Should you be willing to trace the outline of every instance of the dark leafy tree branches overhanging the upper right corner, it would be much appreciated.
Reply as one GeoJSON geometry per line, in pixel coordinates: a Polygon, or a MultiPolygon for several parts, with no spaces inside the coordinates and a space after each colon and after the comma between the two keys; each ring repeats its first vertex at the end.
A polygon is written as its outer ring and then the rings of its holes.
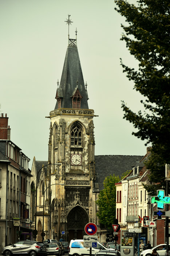
{"type": "Polygon", "coordinates": [[[121,40],[138,63],[138,69],[123,64],[123,72],[145,100],[145,112],[130,110],[122,102],[124,118],[133,123],[133,135],[151,143],[153,152],[170,162],[170,1],[138,0],[137,5],[115,0],[126,18],[121,40]]]}

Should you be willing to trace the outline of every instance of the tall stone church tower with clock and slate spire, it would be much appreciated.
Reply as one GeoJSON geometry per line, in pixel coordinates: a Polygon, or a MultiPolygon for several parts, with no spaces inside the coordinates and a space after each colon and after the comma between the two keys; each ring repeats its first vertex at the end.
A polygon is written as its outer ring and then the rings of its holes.
{"type": "Polygon", "coordinates": [[[96,223],[94,110],[88,108],[77,30],[76,39],[69,36],[70,15],[66,22],[68,47],[55,109],[50,112],[48,163],[51,165],[46,176],[49,188],[44,207],[44,232],[48,231],[44,240],[51,237],[58,241],[62,234],[66,241],[83,239],[85,225],[96,223]]]}

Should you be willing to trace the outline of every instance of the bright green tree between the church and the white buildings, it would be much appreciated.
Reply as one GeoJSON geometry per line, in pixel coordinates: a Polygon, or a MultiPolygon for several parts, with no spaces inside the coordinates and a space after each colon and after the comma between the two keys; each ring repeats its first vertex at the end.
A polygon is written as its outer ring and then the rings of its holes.
{"type": "MultiPolygon", "coordinates": [[[[122,174],[121,179],[130,171],[126,171],[122,174]]],[[[100,191],[96,204],[99,207],[97,216],[99,222],[106,227],[111,227],[114,224],[116,218],[116,186],[115,183],[120,181],[119,176],[107,176],[103,182],[104,189],[100,191]]]]}

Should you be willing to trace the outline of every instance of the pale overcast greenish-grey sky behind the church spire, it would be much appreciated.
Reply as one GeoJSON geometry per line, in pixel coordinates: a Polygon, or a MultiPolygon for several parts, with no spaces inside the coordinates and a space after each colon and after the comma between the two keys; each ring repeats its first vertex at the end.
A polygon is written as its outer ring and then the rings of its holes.
{"type": "Polygon", "coordinates": [[[51,110],[56,104],[70,38],[75,38],[87,81],[88,106],[94,109],[95,155],[145,155],[146,146],[131,135],[123,119],[121,100],[134,111],[141,95],[126,78],[120,57],[137,67],[120,27],[124,17],[114,0],[0,0],[0,104],[7,113],[11,140],[32,160],[48,160],[51,110]]]}

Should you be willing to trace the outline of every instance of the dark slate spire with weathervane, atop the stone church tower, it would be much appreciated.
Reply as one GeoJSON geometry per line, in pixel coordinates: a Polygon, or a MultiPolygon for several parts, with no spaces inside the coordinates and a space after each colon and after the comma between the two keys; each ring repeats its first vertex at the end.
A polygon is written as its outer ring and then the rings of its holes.
{"type": "Polygon", "coordinates": [[[79,108],[88,109],[87,87],[85,89],[82,68],[77,48],[77,29],[76,39],[69,36],[69,25],[71,25],[70,15],[67,19],[68,24],[68,47],[64,60],[62,78],[60,86],[56,92],[56,106],[59,108],[79,108]]]}

